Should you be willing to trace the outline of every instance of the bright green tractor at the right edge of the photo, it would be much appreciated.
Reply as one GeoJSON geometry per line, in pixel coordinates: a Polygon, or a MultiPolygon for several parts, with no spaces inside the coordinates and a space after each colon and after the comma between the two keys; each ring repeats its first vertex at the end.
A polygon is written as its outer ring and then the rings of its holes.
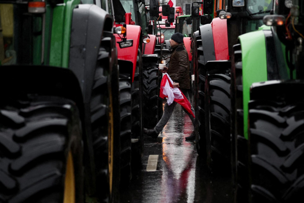
{"type": "Polygon", "coordinates": [[[304,3],[278,0],[272,11],[263,19],[268,28],[239,36],[234,46],[237,202],[302,202],[304,3]]]}

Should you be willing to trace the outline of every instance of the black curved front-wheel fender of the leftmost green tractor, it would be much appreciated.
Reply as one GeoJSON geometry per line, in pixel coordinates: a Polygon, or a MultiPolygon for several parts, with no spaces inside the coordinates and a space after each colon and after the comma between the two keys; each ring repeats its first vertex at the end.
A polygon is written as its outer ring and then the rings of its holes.
{"type": "MultiPolygon", "coordinates": [[[[35,94],[64,97],[74,101],[84,124],[84,105],[81,88],[75,74],[53,66],[10,65],[0,69],[1,103],[23,95],[35,94]]],[[[84,126],[83,133],[85,133],[84,126]]]]}

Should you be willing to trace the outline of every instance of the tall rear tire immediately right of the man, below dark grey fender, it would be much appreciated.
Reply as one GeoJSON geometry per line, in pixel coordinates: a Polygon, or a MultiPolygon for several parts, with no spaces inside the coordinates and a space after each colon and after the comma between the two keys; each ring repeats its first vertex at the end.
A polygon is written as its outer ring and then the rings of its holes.
{"type": "MultiPolygon", "coordinates": [[[[195,34],[198,32],[195,32],[195,34]]],[[[205,80],[206,67],[201,36],[193,37],[193,68],[194,80],[194,106],[195,106],[195,145],[200,158],[206,159],[205,135],[205,80]]]]}

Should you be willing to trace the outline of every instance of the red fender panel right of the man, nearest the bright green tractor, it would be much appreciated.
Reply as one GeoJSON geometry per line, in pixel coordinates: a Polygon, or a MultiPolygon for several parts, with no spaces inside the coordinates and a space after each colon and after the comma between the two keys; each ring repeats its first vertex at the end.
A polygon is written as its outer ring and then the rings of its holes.
{"type": "Polygon", "coordinates": [[[229,60],[227,20],[214,18],[211,27],[216,60],[229,60]]]}

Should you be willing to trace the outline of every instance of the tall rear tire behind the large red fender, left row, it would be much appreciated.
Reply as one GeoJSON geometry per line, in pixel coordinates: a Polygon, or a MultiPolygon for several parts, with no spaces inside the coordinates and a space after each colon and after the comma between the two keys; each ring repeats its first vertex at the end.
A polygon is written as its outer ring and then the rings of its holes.
{"type": "Polygon", "coordinates": [[[132,129],[131,129],[131,157],[132,170],[138,168],[143,156],[143,133],[142,133],[142,98],[143,98],[143,70],[141,50],[138,48],[134,81],[132,83],[132,129]]]}

